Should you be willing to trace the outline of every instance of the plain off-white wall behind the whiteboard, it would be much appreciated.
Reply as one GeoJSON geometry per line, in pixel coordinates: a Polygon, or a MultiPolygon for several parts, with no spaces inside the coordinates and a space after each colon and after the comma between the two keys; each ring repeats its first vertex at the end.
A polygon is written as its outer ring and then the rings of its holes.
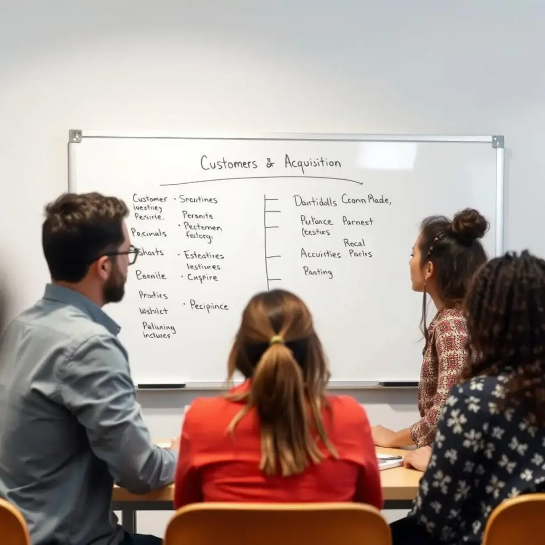
{"type": "MultiPolygon", "coordinates": [[[[47,279],[41,210],[66,190],[70,128],[502,134],[507,246],[545,253],[540,0],[0,0],[0,14],[11,314],[41,295],[29,271],[47,279]]],[[[416,416],[414,392],[358,397],[374,422],[416,416]]],[[[177,433],[190,397],[140,398],[155,437],[177,433]]],[[[139,528],[161,534],[165,517],[139,528]]]]}

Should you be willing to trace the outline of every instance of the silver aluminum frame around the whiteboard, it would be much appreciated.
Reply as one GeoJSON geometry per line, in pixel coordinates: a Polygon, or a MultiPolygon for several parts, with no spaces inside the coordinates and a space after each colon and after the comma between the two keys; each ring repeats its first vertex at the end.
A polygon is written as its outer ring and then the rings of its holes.
{"type": "MultiPolygon", "coordinates": [[[[437,142],[437,143],[481,143],[490,144],[496,150],[496,256],[505,251],[505,140],[500,135],[366,135],[366,134],[343,134],[343,133],[272,133],[255,135],[210,135],[208,133],[183,133],[173,131],[108,131],[108,130],[82,130],[70,129],[68,132],[68,190],[74,189],[73,163],[70,158],[72,146],[77,146],[86,138],[138,138],[156,139],[166,138],[169,140],[293,140],[293,141],[329,141],[329,142],[437,142]]],[[[414,380],[391,381],[396,386],[387,385],[389,381],[368,381],[368,380],[332,380],[329,383],[330,389],[353,390],[353,389],[398,389],[416,388],[414,380]],[[407,386],[399,384],[406,382],[407,386]],[[381,384],[382,383],[382,384],[381,384]]],[[[153,391],[178,391],[186,390],[219,390],[225,386],[223,382],[196,382],[187,383],[183,389],[154,389],[153,391]]],[[[143,391],[143,389],[137,389],[143,391]]]]}

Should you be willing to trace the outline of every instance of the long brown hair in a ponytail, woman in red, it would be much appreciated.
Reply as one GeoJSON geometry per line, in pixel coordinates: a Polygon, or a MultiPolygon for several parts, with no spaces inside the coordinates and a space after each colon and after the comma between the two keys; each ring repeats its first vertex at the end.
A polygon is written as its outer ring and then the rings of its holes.
{"type": "Polygon", "coordinates": [[[324,453],[313,431],[336,457],[322,420],[328,365],[311,314],[298,296],[272,290],[250,300],[229,355],[229,379],[237,370],[251,379],[251,387],[227,396],[246,402],[228,431],[233,432],[251,409],[257,411],[259,469],[274,475],[280,468],[286,477],[322,461],[324,453]]]}

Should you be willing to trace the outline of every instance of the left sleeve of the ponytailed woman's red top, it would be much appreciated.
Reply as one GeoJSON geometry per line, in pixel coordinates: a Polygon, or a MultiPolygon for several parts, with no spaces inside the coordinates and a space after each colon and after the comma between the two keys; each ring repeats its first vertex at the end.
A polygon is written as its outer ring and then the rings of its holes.
{"type": "Polygon", "coordinates": [[[201,475],[192,463],[193,453],[193,415],[195,411],[188,409],[181,428],[180,453],[174,481],[174,508],[179,509],[187,504],[203,501],[201,475]]]}

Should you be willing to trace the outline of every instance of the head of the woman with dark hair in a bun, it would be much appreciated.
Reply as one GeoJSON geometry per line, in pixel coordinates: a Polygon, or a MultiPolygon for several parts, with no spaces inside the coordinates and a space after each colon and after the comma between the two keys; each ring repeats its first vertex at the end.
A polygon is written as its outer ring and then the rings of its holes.
{"type": "Polygon", "coordinates": [[[453,217],[429,216],[422,221],[410,259],[413,289],[423,292],[422,328],[426,330],[426,293],[444,307],[461,305],[475,272],[486,263],[481,241],[488,222],[466,208],[453,217]]]}

